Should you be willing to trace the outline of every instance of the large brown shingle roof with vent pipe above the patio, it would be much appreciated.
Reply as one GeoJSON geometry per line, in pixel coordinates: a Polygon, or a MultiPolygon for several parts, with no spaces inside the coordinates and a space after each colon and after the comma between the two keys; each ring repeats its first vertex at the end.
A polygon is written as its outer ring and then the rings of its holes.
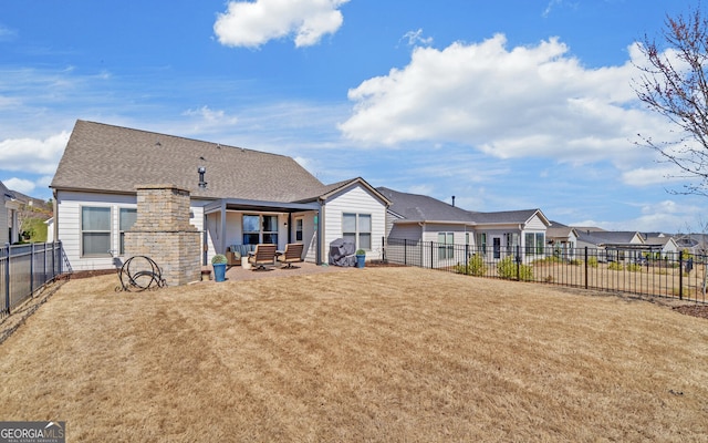
{"type": "Polygon", "coordinates": [[[295,202],[325,186],[293,158],[154,132],[76,121],[51,187],[135,193],[174,184],[195,197],[295,202]],[[206,167],[206,189],[199,188],[206,167]]]}

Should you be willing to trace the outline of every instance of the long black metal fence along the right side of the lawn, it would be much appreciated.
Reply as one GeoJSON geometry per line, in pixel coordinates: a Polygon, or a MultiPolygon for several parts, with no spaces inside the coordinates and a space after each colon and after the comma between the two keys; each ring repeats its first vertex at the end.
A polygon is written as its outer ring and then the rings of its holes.
{"type": "Polygon", "coordinates": [[[389,264],[476,277],[543,282],[707,302],[708,257],[652,249],[472,247],[384,239],[389,264]]]}

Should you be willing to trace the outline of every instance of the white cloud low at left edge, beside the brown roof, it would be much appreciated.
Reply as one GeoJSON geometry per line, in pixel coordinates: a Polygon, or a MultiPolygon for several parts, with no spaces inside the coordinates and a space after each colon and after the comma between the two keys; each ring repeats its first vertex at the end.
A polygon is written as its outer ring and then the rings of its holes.
{"type": "Polygon", "coordinates": [[[0,142],[0,165],[4,171],[54,174],[66,142],[69,133],[65,131],[46,140],[4,140],[0,142]]]}

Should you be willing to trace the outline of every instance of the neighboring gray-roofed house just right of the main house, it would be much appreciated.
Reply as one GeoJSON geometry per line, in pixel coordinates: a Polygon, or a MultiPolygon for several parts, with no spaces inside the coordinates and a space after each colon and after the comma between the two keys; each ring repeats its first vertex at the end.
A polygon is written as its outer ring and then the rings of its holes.
{"type": "Polygon", "coordinates": [[[452,245],[466,245],[470,254],[481,254],[489,260],[516,254],[517,249],[522,256],[544,255],[549,220],[540,209],[476,213],[419,194],[386,187],[378,190],[391,200],[386,237],[435,244],[439,266],[464,259],[464,250],[452,245]]]}

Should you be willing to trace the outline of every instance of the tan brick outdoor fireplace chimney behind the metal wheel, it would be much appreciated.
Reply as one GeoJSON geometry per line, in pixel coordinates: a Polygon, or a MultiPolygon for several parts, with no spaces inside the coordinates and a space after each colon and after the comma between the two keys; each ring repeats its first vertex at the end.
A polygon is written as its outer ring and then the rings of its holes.
{"type": "Polygon", "coordinates": [[[189,192],[175,185],[136,189],[137,219],[125,233],[126,257],[152,258],[168,286],[199,280],[199,231],[189,224],[189,192]]]}

